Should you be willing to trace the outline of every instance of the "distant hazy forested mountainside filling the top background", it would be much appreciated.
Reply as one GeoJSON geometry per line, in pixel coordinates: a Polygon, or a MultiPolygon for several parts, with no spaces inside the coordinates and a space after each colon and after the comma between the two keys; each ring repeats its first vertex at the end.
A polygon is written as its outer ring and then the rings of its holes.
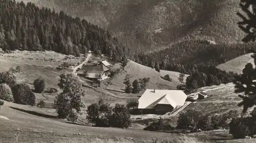
{"type": "Polygon", "coordinates": [[[237,27],[240,20],[239,0],[170,1],[170,0],[98,0],[38,1],[38,6],[63,10],[110,30],[119,41],[135,52],[158,49],[182,39],[207,39],[217,43],[240,42],[244,33],[237,27]]]}

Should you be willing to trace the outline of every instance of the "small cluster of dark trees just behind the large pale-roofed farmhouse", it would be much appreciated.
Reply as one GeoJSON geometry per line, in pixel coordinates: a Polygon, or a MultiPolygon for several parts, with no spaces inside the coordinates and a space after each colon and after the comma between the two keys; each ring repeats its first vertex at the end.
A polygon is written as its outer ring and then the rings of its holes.
{"type": "Polygon", "coordinates": [[[143,78],[138,80],[134,80],[133,83],[131,84],[130,81],[131,76],[127,74],[124,79],[124,84],[125,84],[125,92],[126,93],[139,93],[142,91],[142,89],[145,89],[148,82],[150,82],[150,78],[143,78]]]}

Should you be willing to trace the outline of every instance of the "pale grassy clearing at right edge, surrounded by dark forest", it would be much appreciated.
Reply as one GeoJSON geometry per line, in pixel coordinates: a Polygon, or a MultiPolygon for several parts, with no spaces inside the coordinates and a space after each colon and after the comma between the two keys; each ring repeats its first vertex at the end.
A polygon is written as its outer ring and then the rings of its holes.
{"type": "Polygon", "coordinates": [[[243,74],[243,69],[247,63],[251,63],[253,67],[255,67],[254,60],[251,57],[252,55],[253,53],[239,56],[237,58],[234,58],[223,64],[218,65],[217,68],[225,71],[232,71],[233,73],[243,74]]]}

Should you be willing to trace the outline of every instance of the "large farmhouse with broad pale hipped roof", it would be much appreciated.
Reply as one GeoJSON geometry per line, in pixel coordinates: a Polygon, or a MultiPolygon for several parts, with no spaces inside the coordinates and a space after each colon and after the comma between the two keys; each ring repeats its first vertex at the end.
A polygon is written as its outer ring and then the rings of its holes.
{"type": "Polygon", "coordinates": [[[139,99],[138,109],[162,114],[183,106],[186,98],[182,90],[146,89],[139,99]]]}

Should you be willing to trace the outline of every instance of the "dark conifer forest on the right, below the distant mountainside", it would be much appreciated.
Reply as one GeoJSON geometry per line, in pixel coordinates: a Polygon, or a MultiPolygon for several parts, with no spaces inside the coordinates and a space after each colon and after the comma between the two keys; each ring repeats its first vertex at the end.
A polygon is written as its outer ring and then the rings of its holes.
{"type": "Polygon", "coordinates": [[[189,74],[191,76],[187,79],[186,85],[188,88],[198,88],[232,82],[237,74],[227,73],[216,66],[248,54],[248,51],[254,49],[255,45],[253,42],[211,44],[206,40],[185,40],[170,45],[162,51],[140,54],[135,56],[134,60],[153,68],[159,65],[160,69],[189,74]],[[206,78],[200,78],[200,73],[206,78]]]}

